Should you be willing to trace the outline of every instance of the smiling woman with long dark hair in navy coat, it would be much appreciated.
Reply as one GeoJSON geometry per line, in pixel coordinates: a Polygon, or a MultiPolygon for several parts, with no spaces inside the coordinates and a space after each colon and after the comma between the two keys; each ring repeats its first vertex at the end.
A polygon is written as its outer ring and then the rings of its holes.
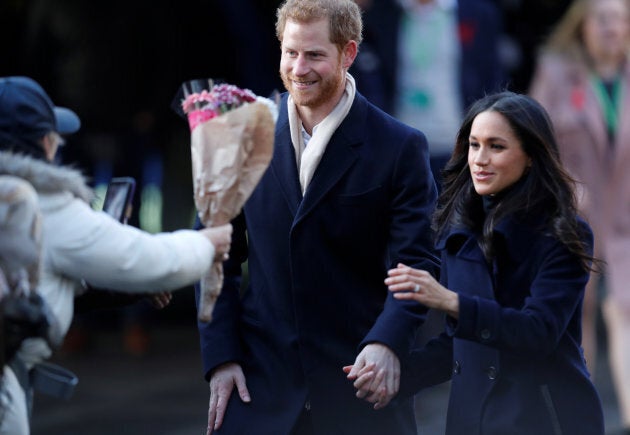
{"type": "MultiPolygon", "coordinates": [[[[452,379],[448,434],[603,434],[580,347],[592,233],[540,104],[503,92],[471,107],[434,223],[440,282],[403,264],[385,280],[446,314],[403,366],[402,394],[452,379]]],[[[376,378],[360,373],[358,395],[376,378]]]]}

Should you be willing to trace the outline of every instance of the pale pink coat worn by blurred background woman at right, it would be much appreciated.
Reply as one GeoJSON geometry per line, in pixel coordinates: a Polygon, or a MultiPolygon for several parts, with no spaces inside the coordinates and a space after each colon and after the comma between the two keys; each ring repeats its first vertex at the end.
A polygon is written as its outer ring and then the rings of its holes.
{"type": "Polygon", "coordinates": [[[609,294],[630,313],[630,67],[622,75],[618,131],[610,146],[585,65],[558,54],[540,58],[530,95],[549,112],[560,155],[580,183],[580,209],[607,262],[609,294]]]}

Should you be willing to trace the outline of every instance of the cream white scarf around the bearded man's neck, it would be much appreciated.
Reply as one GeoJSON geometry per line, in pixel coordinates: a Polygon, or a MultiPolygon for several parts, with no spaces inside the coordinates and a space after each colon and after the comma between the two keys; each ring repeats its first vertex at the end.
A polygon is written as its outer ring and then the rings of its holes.
{"type": "Polygon", "coordinates": [[[346,73],[346,89],[341,96],[341,100],[339,100],[332,112],[322,122],[317,124],[317,129],[313,129],[313,136],[308,141],[306,148],[304,148],[304,139],[302,138],[302,121],[298,115],[293,98],[289,95],[287,103],[289,127],[291,129],[291,142],[293,142],[293,148],[295,148],[295,157],[300,170],[302,194],[304,194],[306,187],[311,182],[311,178],[313,178],[315,169],[317,169],[317,165],[319,165],[319,161],[322,159],[324,151],[326,151],[330,137],[348,115],[355,93],[354,78],[346,73]]]}

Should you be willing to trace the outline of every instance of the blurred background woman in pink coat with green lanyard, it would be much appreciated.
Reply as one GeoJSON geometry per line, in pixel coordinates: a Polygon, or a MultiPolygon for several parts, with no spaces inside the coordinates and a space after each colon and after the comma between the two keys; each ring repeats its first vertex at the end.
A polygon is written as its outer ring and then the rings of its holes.
{"type": "MultiPolygon", "coordinates": [[[[531,95],[549,111],[580,209],[606,261],[602,314],[624,433],[630,433],[630,3],[576,0],[540,53],[531,95]]],[[[584,301],[583,347],[594,371],[598,283],[584,301]]]]}

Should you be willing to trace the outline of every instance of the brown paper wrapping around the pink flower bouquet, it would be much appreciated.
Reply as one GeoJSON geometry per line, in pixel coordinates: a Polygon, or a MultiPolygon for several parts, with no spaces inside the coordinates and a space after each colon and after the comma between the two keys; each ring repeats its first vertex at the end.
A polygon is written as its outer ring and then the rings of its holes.
{"type": "MultiPolygon", "coordinates": [[[[275,122],[260,101],[245,104],[198,125],[191,133],[195,206],[206,227],[235,218],[273,155],[275,122]]],[[[215,262],[201,280],[200,321],[212,320],[223,286],[223,264],[215,262]]]]}

